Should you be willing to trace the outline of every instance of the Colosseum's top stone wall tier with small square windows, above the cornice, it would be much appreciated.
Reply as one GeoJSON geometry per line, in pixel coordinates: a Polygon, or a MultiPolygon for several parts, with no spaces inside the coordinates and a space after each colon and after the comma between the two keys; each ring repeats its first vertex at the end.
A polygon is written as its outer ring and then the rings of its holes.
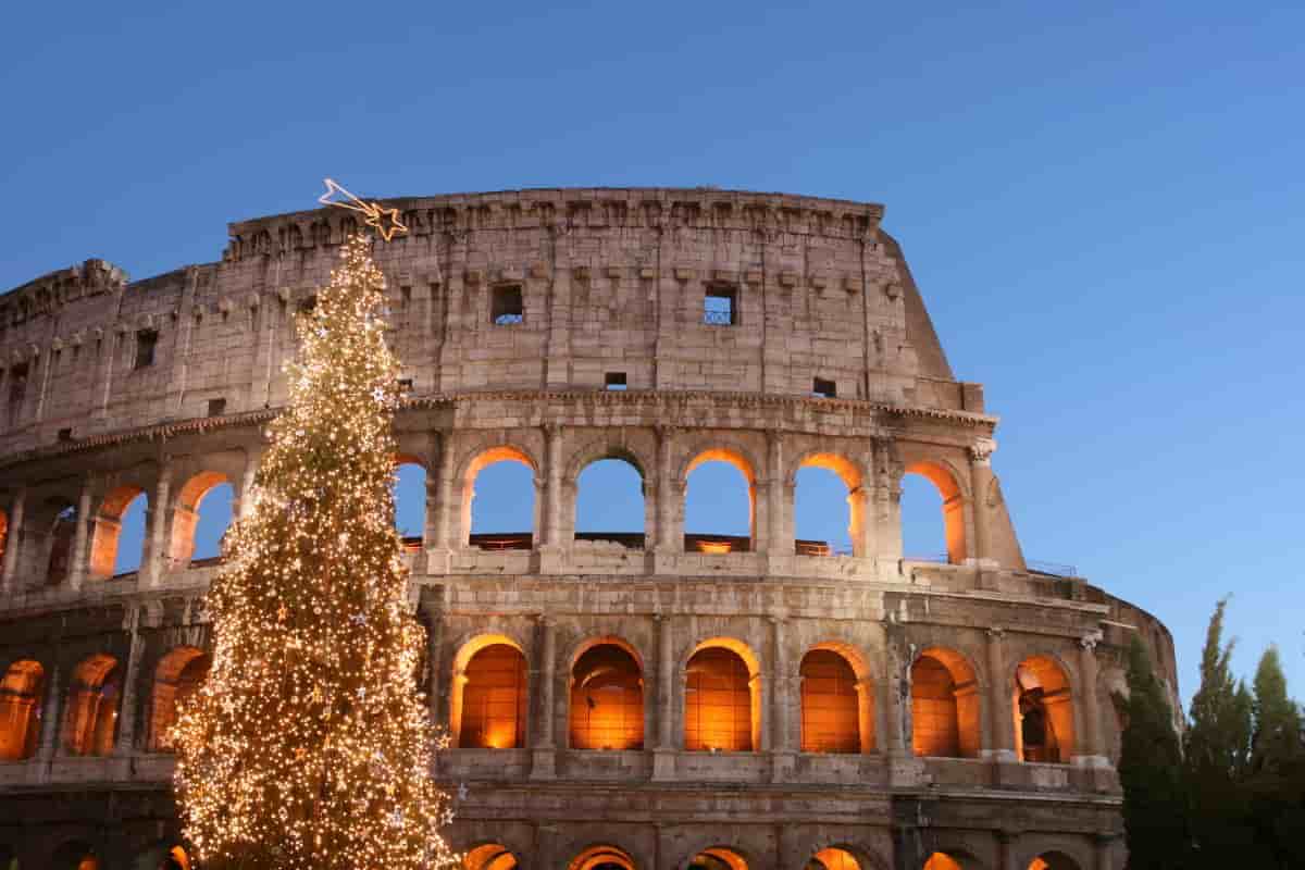
{"type": "MultiPolygon", "coordinates": [[[[882,207],[710,189],[519,190],[389,201],[378,244],[395,348],[416,395],[728,390],[983,412],[953,380],[882,207]],[[492,320],[519,287],[522,318],[492,320]],[[733,325],[703,322],[732,293],[733,325]]],[[[128,283],[98,260],[0,296],[3,453],[60,437],[279,406],[294,312],[355,215],[231,226],[218,263],[128,283]],[[154,335],[141,364],[142,337],[154,335]]]]}

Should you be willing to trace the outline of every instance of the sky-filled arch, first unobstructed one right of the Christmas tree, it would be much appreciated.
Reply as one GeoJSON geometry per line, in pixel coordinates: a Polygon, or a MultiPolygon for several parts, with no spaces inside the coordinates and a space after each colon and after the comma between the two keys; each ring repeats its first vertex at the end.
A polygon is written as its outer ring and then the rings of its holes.
{"type": "Polygon", "coordinates": [[[539,528],[535,463],[515,447],[476,457],[462,483],[463,544],[482,549],[530,549],[539,528]]]}

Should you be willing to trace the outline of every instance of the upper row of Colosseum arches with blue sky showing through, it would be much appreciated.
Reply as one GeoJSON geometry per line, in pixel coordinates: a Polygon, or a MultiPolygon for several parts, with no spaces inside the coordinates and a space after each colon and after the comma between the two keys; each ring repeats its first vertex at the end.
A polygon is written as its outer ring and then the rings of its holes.
{"type": "MultiPolygon", "coordinates": [[[[578,540],[643,545],[642,536],[656,522],[646,497],[647,460],[613,447],[572,464],[568,473],[573,476],[565,479],[574,489],[568,498],[572,533],[578,540]]],[[[395,523],[403,535],[420,537],[429,526],[427,470],[411,457],[397,457],[395,468],[395,523]]],[[[861,533],[869,510],[865,476],[856,462],[834,453],[809,453],[797,460],[791,475],[795,553],[869,554],[861,533]]],[[[499,446],[475,454],[461,470],[459,545],[530,548],[538,543],[544,522],[536,500],[540,480],[539,463],[523,449],[499,446]]],[[[703,449],[683,467],[679,480],[684,487],[681,524],[696,536],[685,543],[690,550],[756,548],[758,475],[749,457],[737,449],[703,449]]],[[[174,496],[166,493],[163,561],[184,566],[217,557],[235,513],[236,490],[228,476],[200,471],[174,496]]],[[[150,496],[144,487],[124,483],[95,503],[51,497],[26,505],[22,528],[10,528],[9,514],[0,510],[0,553],[18,545],[27,550],[27,586],[67,582],[81,567],[74,565],[78,558],[93,580],[129,574],[141,567],[147,549],[150,496]],[[89,515],[80,517],[81,510],[89,515]],[[77,552],[80,527],[86,530],[85,556],[77,552]]],[[[945,553],[953,562],[966,558],[964,500],[950,467],[906,466],[899,496],[903,552],[927,558],[945,553]]]]}

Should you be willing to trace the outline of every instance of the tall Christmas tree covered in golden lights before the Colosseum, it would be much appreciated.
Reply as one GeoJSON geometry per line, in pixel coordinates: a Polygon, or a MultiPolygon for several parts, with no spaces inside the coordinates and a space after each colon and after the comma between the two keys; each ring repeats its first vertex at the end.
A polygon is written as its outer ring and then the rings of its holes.
{"type": "Polygon", "coordinates": [[[352,235],[301,314],[290,403],[207,596],[214,653],[181,712],[176,794],[207,870],[454,863],[394,530],[384,279],[352,235]]]}

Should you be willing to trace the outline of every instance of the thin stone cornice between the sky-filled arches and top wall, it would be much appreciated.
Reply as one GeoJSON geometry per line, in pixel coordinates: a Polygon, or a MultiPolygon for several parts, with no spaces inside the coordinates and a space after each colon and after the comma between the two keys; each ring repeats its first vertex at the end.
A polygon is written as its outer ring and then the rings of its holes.
{"type": "MultiPolygon", "coordinates": [[[[716,391],[667,391],[667,390],[638,390],[630,393],[617,393],[606,390],[502,390],[483,393],[452,393],[427,397],[412,397],[405,399],[402,410],[442,410],[455,408],[459,404],[476,402],[515,402],[539,403],[548,400],[579,402],[587,404],[636,404],[636,406],[680,406],[693,407],[698,403],[716,406],[770,406],[770,407],[801,407],[816,412],[839,408],[850,412],[880,413],[887,417],[923,417],[942,420],[966,428],[992,432],[998,417],[974,413],[970,411],[951,411],[946,408],[923,408],[890,404],[885,402],[867,402],[864,399],[810,399],[797,395],[770,395],[765,393],[716,393],[716,391]]],[[[273,420],[279,413],[277,408],[249,411],[245,413],[232,413],[221,417],[192,417],[188,420],[172,420],[153,425],[124,429],[119,432],[106,432],[100,434],[44,445],[31,450],[0,457],[0,468],[9,468],[25,462],[65,457],[78,453],[98,450],[100,447],[117,446],[132,442],[166,441],[179,434],[192,432],[207,432],[210,429],[226,429],[239,427],[260,425],[273,420]]],[[[679,425],[679,424],[677,424],[679,425]]]]}

